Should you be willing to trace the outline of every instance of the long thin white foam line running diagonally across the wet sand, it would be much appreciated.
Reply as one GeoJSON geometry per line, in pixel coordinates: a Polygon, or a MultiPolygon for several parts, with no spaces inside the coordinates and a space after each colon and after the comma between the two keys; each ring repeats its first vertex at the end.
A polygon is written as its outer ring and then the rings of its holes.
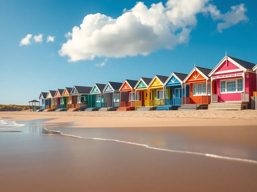
{"type": "Polygon", "coordinates": [[[45,131],[56,132],[56,133],[60,134],[61,136],[66,136],[66,137],[76,137],[76,138],[81,138],[81,139],[93,139],[93,140],[100,140],[100,141],[112,141],[112,142],[126,143],[126,144],[130,144],[130,145],[142,146],[142,147],[146,147],[148,149],[153,149],[153,150],[160,150],[160,151],[173,152],[173,153],[185,153],[185,154],[191,154],[191,155],[200,155],[200,156],[206,156],[206,157],[211,157],[211,158],[227,159],[227,160],[241,161],[241,162],[248,162],[248,163],[256,163],[257,164],[257,161],[251,160],[251,159],[241,159],[241,158],[234,158],[234,157],[226,157],[226,156],[219,156],[219,155],[208,154],[208,153],[197,153],[197,152],[190,152],[190,151],[170,150],[170,149],[164,149],[164,148],[151,147],[150,145],[146,145],[146,144],[132,143],[132,142],[128,142],[128,141],[120,141],[120,140],[116,140],[116,139],[105,139],[105,138],[94,138],[94,137],[80,137],[80,136],[75,136],[75,135],[63,134],[60,131],[47,130],[45,128],[43,128],[43,129],[45,131]]]}

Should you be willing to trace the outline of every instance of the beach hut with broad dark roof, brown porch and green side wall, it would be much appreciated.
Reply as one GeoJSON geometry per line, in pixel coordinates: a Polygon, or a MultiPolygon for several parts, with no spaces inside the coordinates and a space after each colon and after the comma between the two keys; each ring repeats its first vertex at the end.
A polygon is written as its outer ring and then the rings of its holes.
{"type": "Polygon", "coordinates": [[[74,99],[74,105],[70,105],[68,111],[84,111],[86,108],[92,108],[95,104],[95,98],[90,94],[92,87],[74,86],[70,92],[71,99],[74,99]]]}

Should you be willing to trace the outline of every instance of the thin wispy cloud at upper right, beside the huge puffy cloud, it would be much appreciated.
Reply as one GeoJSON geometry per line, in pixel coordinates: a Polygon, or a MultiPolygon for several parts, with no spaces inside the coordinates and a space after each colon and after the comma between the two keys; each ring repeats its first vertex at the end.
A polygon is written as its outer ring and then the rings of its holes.
{"type": "Polygon", "coordinates": [[[232,6],[231,10],[225,14],[221,14],[221,12],[217,10],[217,7],[214,5],[209,6],[209,11],[214,20],[223,20],[222,23],[218,23],[217,25],[217,30],[219,33],[221,33],[223,29],[230,28],[241,21],[247,22],[249,20],[245,15],[247,8],[244,6],[244,4],[232,6]]]}

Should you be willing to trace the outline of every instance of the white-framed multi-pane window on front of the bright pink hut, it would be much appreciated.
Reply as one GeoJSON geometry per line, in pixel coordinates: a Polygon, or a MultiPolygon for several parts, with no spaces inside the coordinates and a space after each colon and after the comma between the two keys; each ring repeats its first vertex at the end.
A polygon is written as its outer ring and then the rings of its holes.
{"type": "Polygon", "coordinates": [[[243,79],[221,80],[221,93],[238,93],[243,91],[243,79]]]}

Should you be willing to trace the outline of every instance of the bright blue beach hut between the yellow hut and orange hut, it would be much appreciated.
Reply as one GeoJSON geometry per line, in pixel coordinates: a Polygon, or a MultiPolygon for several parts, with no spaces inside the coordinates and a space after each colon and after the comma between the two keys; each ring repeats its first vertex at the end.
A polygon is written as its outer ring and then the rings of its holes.
{"type": "MultiPolygon", "coordinates": [[[[164,83],[165,105],[157,106],[156,110],[178,109],[182,105],[182,97],[185,97],[185,85],[183,80],[188,76],[184,73],[173,72],[164,83]]],[[[186,84],[186,97],[189,97],[189,84],[186,84]]]]}

